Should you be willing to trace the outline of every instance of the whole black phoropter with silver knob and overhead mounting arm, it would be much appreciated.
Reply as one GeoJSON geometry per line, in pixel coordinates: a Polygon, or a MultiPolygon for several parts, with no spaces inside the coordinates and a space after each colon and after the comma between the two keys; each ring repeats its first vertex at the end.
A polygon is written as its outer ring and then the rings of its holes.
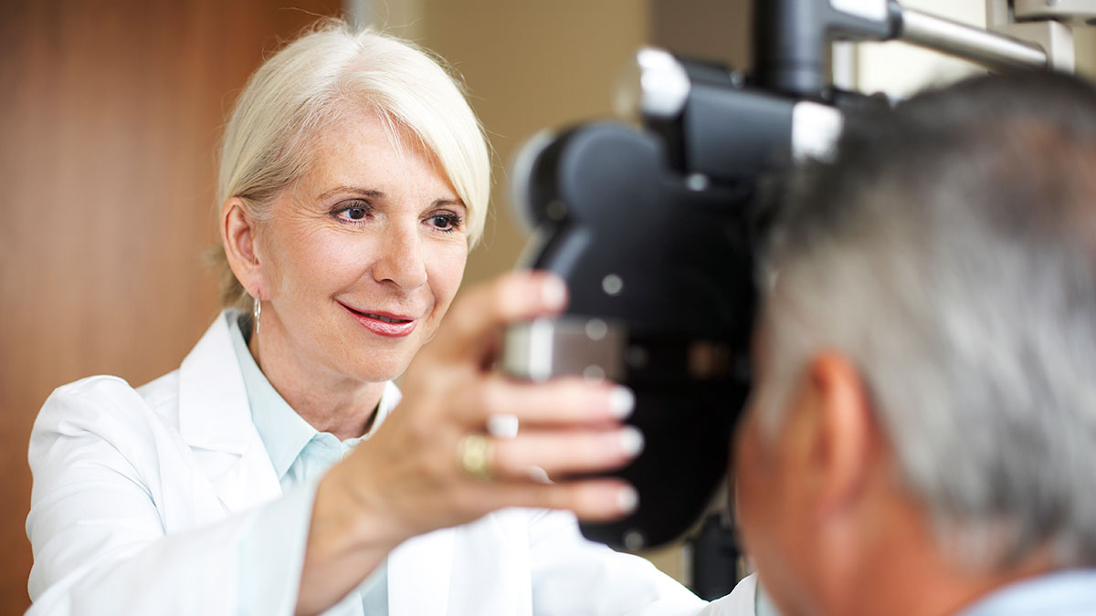
{"type": "Polygon", "coordinates": [[[504,369],[607,377],[636,392],[628,421],[646,448],[615,475],[640,505],[581,525],[613,547],[665,544],[710,502],[750,388],[758,180],[825,157],[846,116],[886,104],[830,87],[829,44],[903,34],[893,0],[765,0],[754,18],[752,76],[641,52],[641,126],[573,126],[537,139],[514,172],[520,215],[535,230],[522,265],[562,276],[571,304],[558,321],[512,328],[504,369]]]}

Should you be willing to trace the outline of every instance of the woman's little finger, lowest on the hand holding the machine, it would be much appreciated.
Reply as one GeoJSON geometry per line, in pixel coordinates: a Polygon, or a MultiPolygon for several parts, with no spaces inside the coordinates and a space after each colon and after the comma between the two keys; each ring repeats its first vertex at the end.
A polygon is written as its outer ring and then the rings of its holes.
{"type": "Polygon", "coordinates": [[[481,502],[492,509],[520,506],[574,512],[580,520],[606,522],[633,512],[636,489],[619,479],[583,479],[563,483],[512,482],[483,488],[481,502]]]}

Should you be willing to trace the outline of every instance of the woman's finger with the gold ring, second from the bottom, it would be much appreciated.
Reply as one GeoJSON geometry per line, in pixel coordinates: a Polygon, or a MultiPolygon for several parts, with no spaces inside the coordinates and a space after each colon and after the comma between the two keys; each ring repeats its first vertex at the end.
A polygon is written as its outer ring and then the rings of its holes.
{"type": "Polygon", "coordinates": [[[630,425],[601,432],[534,432],[491,443],[488,465],[499,478],[528,477],[530,467],[550,476],[613,470],[643,450],[643,435],[630,425]]]}

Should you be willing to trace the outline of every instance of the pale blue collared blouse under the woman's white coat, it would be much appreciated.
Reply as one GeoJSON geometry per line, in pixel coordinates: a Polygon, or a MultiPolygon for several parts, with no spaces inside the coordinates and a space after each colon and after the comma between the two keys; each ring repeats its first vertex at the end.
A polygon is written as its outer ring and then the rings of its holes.
{"type": "MultiPolygon", "coordinates": [[[[243,384],[248,390],[252,421],[254,421],[263,445],[270,454],[283,492],[289,493],[296,489],[313,491],[316,483],[319,482],[328,468],[343,459],[351,449],[376,431],[384,420],[380,417],[380,410],[388,406],[384,403],[378,406],[378,417],[374,419],[369,432],[363,436],[339,441],[330,432],[317,431],[289,407],[259,369],[259,365],[255,364],[255,360],[248,349],[243,329],[241,329],[240,321],[244,319],[246,315],[240,315],[239,319],[229,318],[229,331],[236,350],[236,358],[243,375],[243,384]]],[[[247,323],[243,328],[250,329],[247,323]]],[[[304,536],[307,537],[307,529],[285,533],[287,529],[276,528],[275,526],[279,523],[299,524],[299,517],[294,522],[289,522],[289,518],[295,516],[285,516],[285,520],[281,520],[282,517],[277,515],[275,510],[273,515],[261,518],[241,543],[243,571],[240,572],[241,592],[237,602],[239,614],[265,614],[265,597],[270,594],[270,589],[263,588],[260,582],[269,581],[270,577],[255,573],[262,571],[265,562],[270,562],[267,559],[277,558],[276,554],[272,554],[271,546],[272,539],[277,543],[277,533],[282,532],[283,537],[300,536],[300,533],[304,533],[304,536]],[[272,536],[272,533],[275,535],[272,536]]],[[[366,578],[357,589],[324,614],[340,616],[387,615],[388,570],[386,563],[381,563],[377,571],[366,578]]]]}

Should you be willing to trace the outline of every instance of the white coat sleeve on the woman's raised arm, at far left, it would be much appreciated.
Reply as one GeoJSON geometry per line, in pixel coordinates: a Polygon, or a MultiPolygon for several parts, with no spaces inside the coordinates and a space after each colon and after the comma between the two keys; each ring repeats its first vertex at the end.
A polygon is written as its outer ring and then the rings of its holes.
{"type": "Polygon", "coordinates": [[[304,538],[278,533],[270,521],[304,517],[307,535],[315,491],[167,534],[169,522],[180,526],[170,516],[190,515],[187,503],[169,501],[189,492],[165,490],[158,465],[183,465],[173,459],[187,453],[183,447],[121,379],[93,377],[50,396],[28,452],[28,614],[237,614],[240,548],[251,533],[277,534],[271,541],[290,545],[261,584],[278,605],[265,613],[292,614],[304,538]]]}

